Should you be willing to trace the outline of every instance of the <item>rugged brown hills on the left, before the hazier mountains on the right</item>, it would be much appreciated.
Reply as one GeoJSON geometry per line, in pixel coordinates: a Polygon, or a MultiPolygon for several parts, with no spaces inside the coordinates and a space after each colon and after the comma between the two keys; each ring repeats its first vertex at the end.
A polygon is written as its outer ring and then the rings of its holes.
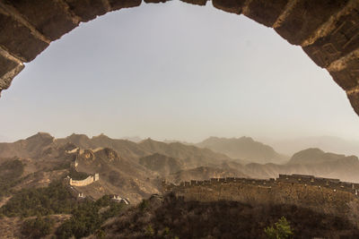
{"type": "MultiPolygon", "coordinates": [[[[11,163],[16,159],[23,165],[21,175],[14,181],[17,183],[3,188],[10,192],[23,187],[46,186],[52,180],[74,175],[70,167],[74,165],[77,149],[80,149],[80,157],[76,170],[84,177],[100,175],[100,181],[79,187],[80,192],[95,199],[103,194],[118,194],[133,203],[159,192],[162,178],[167,175],[197,166],[218,166],[231,160],[210,149],[180,143],[150,139],[135,143],[110,139],[103,134],[92,138],[72,134],[55,139],[48,133],[39,132],[25,140],[0,144],[0,164],[9,164],[8,160],[11,163]]],[[[206,178],[204,175],[199,177],[206,178]]],[[[8,184],[6,182],[4,184],[8,184]]]]}

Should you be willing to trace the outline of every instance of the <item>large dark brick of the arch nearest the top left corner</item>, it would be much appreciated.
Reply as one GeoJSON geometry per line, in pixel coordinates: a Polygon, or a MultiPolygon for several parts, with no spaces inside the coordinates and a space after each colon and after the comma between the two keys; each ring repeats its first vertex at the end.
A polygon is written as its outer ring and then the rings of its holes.
{"type": "Polygon", "coordinates": [[[51,40],[60,38],[78,25],[60,0],[12,0],[7,3],[51,40]]]}

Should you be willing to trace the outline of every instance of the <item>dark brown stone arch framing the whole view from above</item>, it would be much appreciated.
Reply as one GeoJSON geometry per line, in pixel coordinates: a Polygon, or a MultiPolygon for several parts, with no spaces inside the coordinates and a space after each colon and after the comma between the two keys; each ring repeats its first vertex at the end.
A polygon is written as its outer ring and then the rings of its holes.
{"type": "MultiPolygon", "coordinates": [[[[164,3],[170,0],[144,0],[164,3]]],[[[205,5],[207,0],[181,0],[205,5]]],[[[0,92],[51,41],[80,22],[135,7],[142,0],[0,0],[0,92]]],[[[327,69],[359,115],[358,0],[212,0],[215,8],[244,14],[301,46],[327,69]]]]}

